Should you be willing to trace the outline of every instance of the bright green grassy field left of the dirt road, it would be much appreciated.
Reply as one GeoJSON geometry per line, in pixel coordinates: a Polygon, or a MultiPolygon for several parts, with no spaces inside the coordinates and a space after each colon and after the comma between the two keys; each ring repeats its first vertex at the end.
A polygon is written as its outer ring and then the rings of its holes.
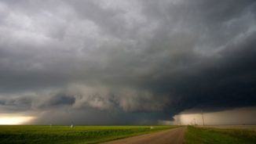
{"type": "Polygon", "coordinates": [[[177,126],[0,126],[0,143],[97,143],[177,126]]]}

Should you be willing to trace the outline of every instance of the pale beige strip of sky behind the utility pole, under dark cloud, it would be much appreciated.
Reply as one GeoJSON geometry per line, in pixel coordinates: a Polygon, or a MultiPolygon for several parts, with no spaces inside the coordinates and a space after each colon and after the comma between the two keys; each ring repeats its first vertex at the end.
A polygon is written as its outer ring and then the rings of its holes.
{"type": "Polygon", "coordinates": [[[203,125],[236,125],[236,124],[254,124],[256,119],[256,107],[241,107],[218,112],[203,112],[200,110],[185,110],[174,116],[172,124],[199,124],[203,125]]]}

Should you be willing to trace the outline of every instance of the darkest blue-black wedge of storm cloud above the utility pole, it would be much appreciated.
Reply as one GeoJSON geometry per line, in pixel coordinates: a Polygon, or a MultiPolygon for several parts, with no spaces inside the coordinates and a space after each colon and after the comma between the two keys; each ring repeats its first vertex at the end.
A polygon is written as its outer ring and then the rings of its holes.
{"type": "MultiPolygon", "coordinates": [[[[169,85],[168,88],[174,88],[176,94],[182,95],[180,104],[185,107],[254,106],[255,34],[246,39],[240,45],[227,46],[214,60],[204,59],[197,66],[187,69],[185,74],[178,74],[175,78],[164,77],[164,83],[169,85]]],[[[163,81],[161,79],[157,83],[163,81]]]]}

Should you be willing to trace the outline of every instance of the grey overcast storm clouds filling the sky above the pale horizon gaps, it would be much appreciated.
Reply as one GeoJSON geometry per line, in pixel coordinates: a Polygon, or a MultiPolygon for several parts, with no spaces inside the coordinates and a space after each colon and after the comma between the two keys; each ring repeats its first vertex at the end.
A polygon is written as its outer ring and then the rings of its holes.
{"type": "Polygon", "coordinates": [[[0,0],[0,113],[31,124],[255,114],[255,46],[254,0],[0,0]]]}

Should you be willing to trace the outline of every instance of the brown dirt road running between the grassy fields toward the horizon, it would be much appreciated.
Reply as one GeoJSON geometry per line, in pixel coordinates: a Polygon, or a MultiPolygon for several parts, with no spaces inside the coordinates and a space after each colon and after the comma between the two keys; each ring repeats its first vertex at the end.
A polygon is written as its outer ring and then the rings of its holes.
{"type": "Polygon", "coordinates": [[[126,139],[119,139],[104,144],[182,144],[185,127],[159,131],[147,135],[138,135],[126,139]]]}

